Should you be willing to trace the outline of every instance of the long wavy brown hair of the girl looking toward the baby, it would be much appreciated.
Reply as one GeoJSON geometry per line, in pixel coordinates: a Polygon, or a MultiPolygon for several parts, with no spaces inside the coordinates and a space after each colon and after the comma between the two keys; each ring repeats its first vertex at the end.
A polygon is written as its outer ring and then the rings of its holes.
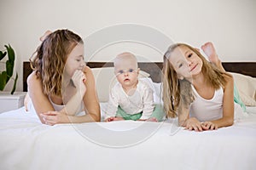
{"type": "Polygon", "coordinates": [[[44,94],[61,96],[61,82],[67,56],[73,48],[84,43],[79,35],[69,30],[49,34],[30,59],[33,71],[42,79],[44,94]]]}

